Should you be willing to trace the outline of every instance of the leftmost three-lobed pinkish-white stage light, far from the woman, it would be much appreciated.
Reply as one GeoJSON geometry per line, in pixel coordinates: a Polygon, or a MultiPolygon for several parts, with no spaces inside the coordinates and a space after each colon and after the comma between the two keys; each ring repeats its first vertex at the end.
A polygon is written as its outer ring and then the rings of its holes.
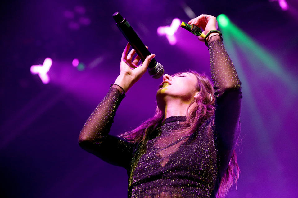
{"type": "Polygon", "coordinates": [[[30,71],[32,74],[38,74],[43,84],[48,84],[50,78],[47,75],[47,72],[50,70],[52,63],[51,58],[46,58],[44,59],[43,65],[32,65],[30,71]]]}

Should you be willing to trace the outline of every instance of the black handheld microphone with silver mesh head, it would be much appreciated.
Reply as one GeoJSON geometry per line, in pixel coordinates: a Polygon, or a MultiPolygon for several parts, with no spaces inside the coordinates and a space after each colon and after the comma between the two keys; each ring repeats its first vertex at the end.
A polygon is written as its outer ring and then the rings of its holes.
{"type": "MultiPolygon", "coordinates": [[[[145,45],[138,37],[137,33],[130,26],[128,21],[123,18],[119,12],[115,12],[113,14],[113,18],[115,19],[116,25],[118,26],[126,40],[133,47],[133,49],[136,50],[142,62],[144,62],[145,58],[151,54],[149,50],[145,47],[145,45]]],[[[149,63],[148,72],[152,78],[157,79],[164,75],[165,70],[164,67],[160,63],[156,62],[155,58],[153,58],[149,63]]]]}

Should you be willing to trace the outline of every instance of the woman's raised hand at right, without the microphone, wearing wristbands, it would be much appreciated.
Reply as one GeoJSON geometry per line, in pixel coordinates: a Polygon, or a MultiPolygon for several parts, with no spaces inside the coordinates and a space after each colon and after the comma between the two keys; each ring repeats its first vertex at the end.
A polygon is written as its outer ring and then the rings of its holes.
{"type": "MultiPolygon", "coordinates": [[[[211,16],[211,15],[200,15],[194,19],[191,19],[188,24],[195,24],[196,26],[204,29],[204,31],[202,31],[203,34],[207,34],[210,30],[217,30],[217,20],[216,20],[216,17],[215,16],[211,16]]],[[[211,33],[209,35],[209,38],[210,36],[212,35],[215,35],[215,34],[219,34],[219,33],[211,33]]],[[[198,36],[198,39],[200,41],[203,41],[204,42],[204,39],[200,36],[198,36]]],[[[207,41],[208,41],[208,38],[206,38],[207,41]]]]}

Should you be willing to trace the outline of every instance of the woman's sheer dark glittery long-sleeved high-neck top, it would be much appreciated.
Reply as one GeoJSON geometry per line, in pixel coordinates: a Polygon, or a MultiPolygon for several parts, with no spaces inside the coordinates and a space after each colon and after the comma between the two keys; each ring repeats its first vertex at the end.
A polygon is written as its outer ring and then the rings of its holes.
{"type": "Polygon", "coordinates": [[[109,92],[88,118],[80,146],[128,174],[128,197],[212,198],[228,167],[240,132],[241,82],[219,36],[209,42],[211,74],[217,93],[215,115],[190,135],[174,130],[185,116],[171,116],[142,143],[109,135],[124,98],[121,88],[109,92]]]}

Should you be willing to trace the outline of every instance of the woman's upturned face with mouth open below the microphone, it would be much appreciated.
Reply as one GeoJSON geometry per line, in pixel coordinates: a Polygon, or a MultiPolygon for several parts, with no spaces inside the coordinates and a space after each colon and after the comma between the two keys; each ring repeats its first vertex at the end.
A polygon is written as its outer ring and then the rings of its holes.
{"type": "Polygon", "coordinates": [[[165,74],[156,96],[180,98],[183,101],[191,102],[196,91],[197,78],[190,72],[183,72],[174,76],[165,74]]]}

